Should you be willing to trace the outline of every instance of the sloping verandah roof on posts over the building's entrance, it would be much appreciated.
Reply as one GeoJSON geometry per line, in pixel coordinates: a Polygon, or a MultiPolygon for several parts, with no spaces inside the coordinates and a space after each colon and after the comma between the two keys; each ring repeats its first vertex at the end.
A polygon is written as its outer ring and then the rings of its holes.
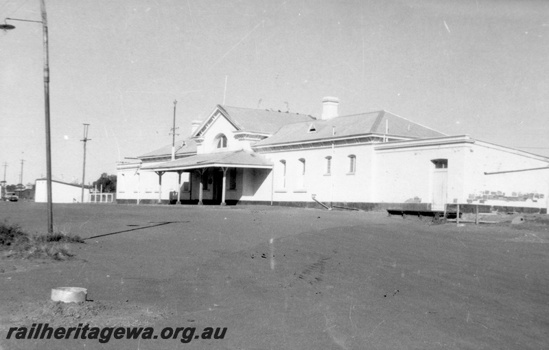
{"type": "Polygon", "coordinates": [[[197,154],[196,156],[176,159],[175,161],[142,167],[141,170],[174,172],[177,170],[193,170],[205,167],[250,167],[272,169],[272,163],[260,154],[245,150],[237,150],[231,152],[197,154]]]}

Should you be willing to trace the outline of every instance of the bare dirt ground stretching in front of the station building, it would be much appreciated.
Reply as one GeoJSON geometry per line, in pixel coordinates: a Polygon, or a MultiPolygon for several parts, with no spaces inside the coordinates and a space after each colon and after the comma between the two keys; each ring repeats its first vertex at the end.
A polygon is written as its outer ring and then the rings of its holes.
{"type": "MultiPolygon", "coordinates": [[[[281,207],[56,205],[62,262],[0,260],[0,349],[547,349],[549,220],[430,225],[281,207]],[[86,303],[49,301],[87,288],[86,303]],[[224,339],[15,340],[9,327],[227,327],[224,339]]],[[[0,220],[45,230],[45,205],[0,220]]],[[[485,218],[493,220],[494,216],[485,218]]]]}

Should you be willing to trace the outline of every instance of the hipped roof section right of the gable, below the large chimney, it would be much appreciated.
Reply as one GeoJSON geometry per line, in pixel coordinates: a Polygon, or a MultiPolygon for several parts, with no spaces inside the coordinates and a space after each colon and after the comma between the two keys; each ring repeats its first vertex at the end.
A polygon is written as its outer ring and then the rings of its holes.
{"type": "Polygon", "coordinates": [[[316,132],[309,132],[310,126],[310,121],[282,126],[271,137],[255,143],[254,147],[371,134],[408,139],[447,136],[442,132],[388,113],[385,110],[347,115],[328,120],[316,120],[314,121],[316,132]],[[388,128],[388,132],[386,132],[386,128],[388,128]]]}

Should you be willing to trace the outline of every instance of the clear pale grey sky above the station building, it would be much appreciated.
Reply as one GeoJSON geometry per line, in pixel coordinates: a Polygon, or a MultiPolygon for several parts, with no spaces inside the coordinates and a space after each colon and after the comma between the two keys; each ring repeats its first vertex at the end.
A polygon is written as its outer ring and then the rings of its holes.
{"type": "MultiPolygon", "coordinates": [[[[549,156],[549,1],[46,0],[52,175],[85,183],[217,104],[388,110],[549,156]]],[[[40,21],[39,0],[0,0],[40,21]]],[[[0,31],[0,171],[46,176],[43,28],[0,31]],[[7,164],[7,167],[4,165],[7,164]]],[[[0,173],[0,178],[3,174],[0,173]]]]}

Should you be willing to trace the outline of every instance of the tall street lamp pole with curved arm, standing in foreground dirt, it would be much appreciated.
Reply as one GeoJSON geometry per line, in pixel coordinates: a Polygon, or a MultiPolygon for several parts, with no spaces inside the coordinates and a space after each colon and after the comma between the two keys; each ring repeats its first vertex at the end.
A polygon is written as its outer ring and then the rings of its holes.
{"type": "Polygon", "coordinates": [[[42,21],[29,21],[27,19],[10,19],[6,18],[4,24],[0,24],[0,30],[13,30],[14,25],[7,23],[8,19],[11,21],[23,21],[23,22],[35,22],[42,23],[42,29],[44,34],[44,105],[45,105],[45,119],[46,119],[46,184],[47,184],[47,233],[54,233],[54,207],[51,202],[51,140],[49,132],[49,55],[47,48],[47,16],[46,5],[44,0],[40,0],[40,12],[42,14],[42,21]]]}

